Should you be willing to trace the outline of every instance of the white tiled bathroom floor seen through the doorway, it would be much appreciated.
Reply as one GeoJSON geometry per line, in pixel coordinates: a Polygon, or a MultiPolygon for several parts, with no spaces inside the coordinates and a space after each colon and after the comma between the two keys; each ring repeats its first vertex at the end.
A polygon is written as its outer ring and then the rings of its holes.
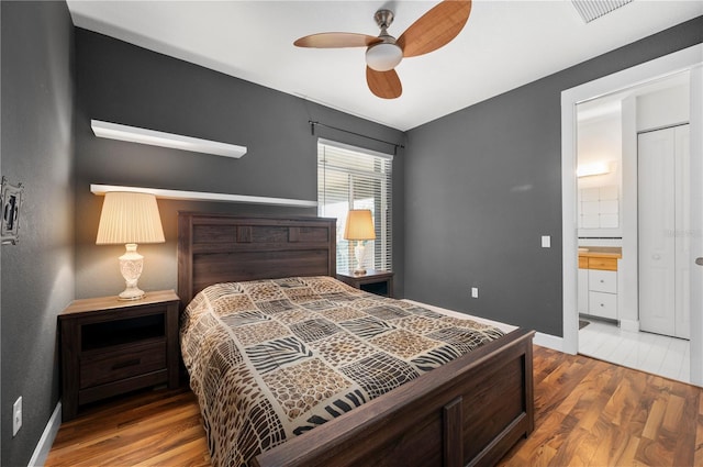
{"type": "Polygon", "coordinates": [[[678,381],[691,381],[689,341],[623,331],[615,324],[589,321],[579,331],[580,354],[678,381]]]}

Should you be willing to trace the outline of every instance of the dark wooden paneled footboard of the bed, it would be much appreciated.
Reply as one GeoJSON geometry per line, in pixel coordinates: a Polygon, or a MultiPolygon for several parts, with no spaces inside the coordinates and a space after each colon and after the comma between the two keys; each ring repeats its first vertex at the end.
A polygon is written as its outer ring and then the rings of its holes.
{"type": "Polygon", "coordinates": [[[492,466],[534,427],[533,335],[513,331],[253,465],[492,466]]]}

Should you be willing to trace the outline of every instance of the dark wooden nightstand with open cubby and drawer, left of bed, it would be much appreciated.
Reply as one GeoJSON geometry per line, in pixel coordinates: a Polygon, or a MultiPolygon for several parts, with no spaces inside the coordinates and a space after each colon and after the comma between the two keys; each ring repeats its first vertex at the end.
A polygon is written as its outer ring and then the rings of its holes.
{"type": "Polygon", "coordinates": [[[58,315],[64,421],[111,396],[178,387],[179,302],[172,290],[134,301],[101,297],[75,300],[58,315]]]}

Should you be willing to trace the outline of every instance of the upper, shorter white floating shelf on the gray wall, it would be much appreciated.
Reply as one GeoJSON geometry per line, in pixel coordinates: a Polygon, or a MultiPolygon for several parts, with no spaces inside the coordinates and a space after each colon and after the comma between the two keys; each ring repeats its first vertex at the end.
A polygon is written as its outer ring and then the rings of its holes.
{"type": "Polygon", "coordinates": [[[131,143],[170,147],[193,153],[214,154],[237,159],[246,154],[246,146],[140,129],[137,126],[121,125],[119,123],[103,122],[100,120],[91,120],[90,126],[96,136],[110,140],[129,141],[131,143]]]}

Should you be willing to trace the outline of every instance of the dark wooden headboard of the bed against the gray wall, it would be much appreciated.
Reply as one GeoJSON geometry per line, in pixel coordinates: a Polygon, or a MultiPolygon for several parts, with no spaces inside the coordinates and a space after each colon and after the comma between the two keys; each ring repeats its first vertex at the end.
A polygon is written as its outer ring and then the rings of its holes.
{"type": "Polygon", "coordinates": [[[336,219],[178,213],[178,296],[217,282],[334,276],[336,219]]]}

